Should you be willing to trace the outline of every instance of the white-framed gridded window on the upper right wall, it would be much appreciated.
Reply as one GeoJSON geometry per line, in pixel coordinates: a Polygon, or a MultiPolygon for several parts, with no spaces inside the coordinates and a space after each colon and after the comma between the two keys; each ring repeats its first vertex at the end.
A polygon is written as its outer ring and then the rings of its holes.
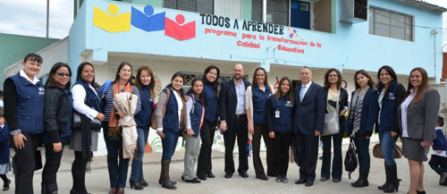
{"type": "Polygon", "coordinates": [[[413,41],[413,16],[369,8],[369,34],[413,41]]]}

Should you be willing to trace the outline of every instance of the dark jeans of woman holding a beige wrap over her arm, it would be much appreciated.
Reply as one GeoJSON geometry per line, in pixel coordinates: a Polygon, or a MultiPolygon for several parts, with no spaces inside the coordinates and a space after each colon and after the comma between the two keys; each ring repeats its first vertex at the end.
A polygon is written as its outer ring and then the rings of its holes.
{"type": "Polygon", "coordinates": [[[127,172],[129,170],[129,158],[122,156],[122,136],[119,140],[109,139],[109,122],[103,122],[105,148],[107,148],[107,168],[109,172],[110,188],[125,188],[127,172]],[[120,162],[118,164],[118,158],[120,162]]]}

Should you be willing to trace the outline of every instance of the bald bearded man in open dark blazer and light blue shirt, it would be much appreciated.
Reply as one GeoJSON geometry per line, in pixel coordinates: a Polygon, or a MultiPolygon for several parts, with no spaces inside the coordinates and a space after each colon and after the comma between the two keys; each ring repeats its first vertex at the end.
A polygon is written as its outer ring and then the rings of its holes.
{"type": "Polygon", "coordinates": [[[220,129],[223,131],[225,144],[225,178],[232,178],[234,173],[234,161],[232,150],[236,135],[239,147],[238,173],[243,178],[249,178],[249,158],[247,156],[247,141],[249,129],[247,112],[245,108],[245,90],[249,87],[249,81],[242,79],[244,67],[238,63],[232,70],[233,80],[225,81],[221,85],[219,97],[220,129]],[[228,129],[227,129],[228,127],[228,129]]]}

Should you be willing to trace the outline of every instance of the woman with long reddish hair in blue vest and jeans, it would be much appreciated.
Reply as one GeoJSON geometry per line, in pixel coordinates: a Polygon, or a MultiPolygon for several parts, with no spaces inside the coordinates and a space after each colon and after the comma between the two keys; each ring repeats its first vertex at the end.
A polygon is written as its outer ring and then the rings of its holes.
{"type": "Polygon", "coordinates": [[[135,190],[143,190],[148,187],[148,182],[143,176],[143,156],[146,145],[148,143],[148,135],[150,128],[150,118],[153,114],[153,105],[156,87],[154,73],[148,66],[141,66],[137,70],[137,79],[135,86],[139,88],[139,97],[141,98],[141,111],[135,114],[135,122],[137,122],[137,131],[139,138],[137,139],[137,157],[132,161],[131,179],[129,180],[131,188],[135,190]]]}

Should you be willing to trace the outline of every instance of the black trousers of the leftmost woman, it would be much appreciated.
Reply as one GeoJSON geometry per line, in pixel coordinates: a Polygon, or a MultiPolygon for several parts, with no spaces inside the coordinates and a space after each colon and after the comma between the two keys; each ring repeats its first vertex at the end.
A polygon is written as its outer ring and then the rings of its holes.
{"type": "Polygon", "coordinates": [[[23,140],[24,148],[16,148],[13,136],[10,136],[10,144],[17,156],[17,172],[15,174],[15,193],[33,193],[32,179],[36,169],[35,153],[40,143],[40,134],[23,134],[27,140],[23,140]]]}

